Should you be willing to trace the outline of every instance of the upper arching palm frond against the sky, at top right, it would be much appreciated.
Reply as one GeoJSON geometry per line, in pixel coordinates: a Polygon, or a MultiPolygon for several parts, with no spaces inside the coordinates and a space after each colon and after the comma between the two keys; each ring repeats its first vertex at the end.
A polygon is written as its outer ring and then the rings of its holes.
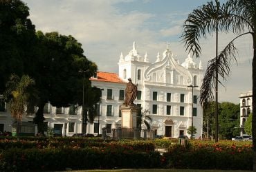
{"type": "MultiPolygon", "coordinates": [[[[248,15],[248,10],[245,9],[246,5],[240,6],[241,2],[246,0],[239,0],[239,3],[234,3],[234,1],[227,1],[221,6],[217,1],[215,3],[210,1],[189,14],[181,35],[186,51],[199,57],[201,54],[199,39],[206,38],[206,34],[212,34],[216,30],[241,34],[246,29],[249,32],[254,29],[250,24],[252,15],[248,15]]],[[[249,1],[246,2],[249,6],[249,1]]]]}

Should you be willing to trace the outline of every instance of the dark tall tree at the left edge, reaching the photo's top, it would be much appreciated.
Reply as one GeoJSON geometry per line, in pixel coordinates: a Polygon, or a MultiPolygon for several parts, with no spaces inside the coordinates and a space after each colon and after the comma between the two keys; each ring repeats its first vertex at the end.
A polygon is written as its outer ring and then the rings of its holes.
{"type": "Polygon", "coordinates": [[[29,8],[19,0],[0,0],[0,94],[11,74],[21,76],[35,45],[35,25],[29,8]]]}

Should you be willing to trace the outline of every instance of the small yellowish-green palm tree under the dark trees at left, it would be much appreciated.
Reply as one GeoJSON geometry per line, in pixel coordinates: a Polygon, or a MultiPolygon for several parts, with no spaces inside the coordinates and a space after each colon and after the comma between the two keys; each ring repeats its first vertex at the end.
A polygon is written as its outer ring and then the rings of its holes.
{"type": "Polygon", "coordinates": [[[16,132],[19,135],[22,116],[31,103],[35,103],[37,92],[34,89],[35,80],[27,75],[19,78],[17,75],[10,76],[6,84],[4,97],[8,102],[10,114],[16,120],[16,132]]]}

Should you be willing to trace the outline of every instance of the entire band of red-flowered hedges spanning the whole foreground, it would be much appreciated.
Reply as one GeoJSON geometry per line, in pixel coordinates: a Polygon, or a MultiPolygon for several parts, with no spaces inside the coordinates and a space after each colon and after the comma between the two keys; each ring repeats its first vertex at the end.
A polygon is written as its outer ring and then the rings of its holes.
{"type": "Polygon", "coordinates": [[[113,168],[253,169],[251,142],[3,138],[0,171],[113,168]],[[172,144],[174,142],[174,144],[172,144]],[[154,148],[169,148],[161,155],[154,148]]]}

